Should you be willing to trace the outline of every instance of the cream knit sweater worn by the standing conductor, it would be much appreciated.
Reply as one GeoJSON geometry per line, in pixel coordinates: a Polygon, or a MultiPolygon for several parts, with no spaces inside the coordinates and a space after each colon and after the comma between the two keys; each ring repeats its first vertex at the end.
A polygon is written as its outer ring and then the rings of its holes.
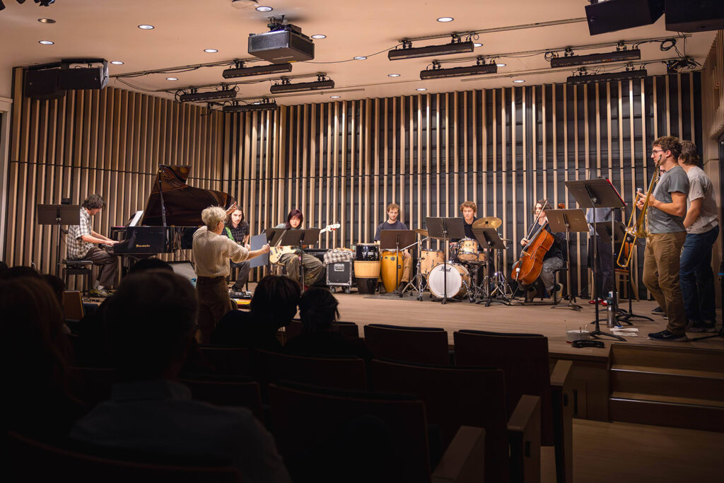
{"type": "Polygon", "coordinates": [[[193,257],[199,277],[226,277],[229,259],[236,263],[244,261],[249,258],[249,251],[226,235],[216,235],[201,227],[193,234],[193,257]]]}

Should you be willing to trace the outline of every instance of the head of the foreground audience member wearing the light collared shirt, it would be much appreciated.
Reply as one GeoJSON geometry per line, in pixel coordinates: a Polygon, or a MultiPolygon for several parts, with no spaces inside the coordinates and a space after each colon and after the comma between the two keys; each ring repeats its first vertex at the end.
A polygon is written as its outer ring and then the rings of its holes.
{"type": "Polygon", "coordinates": [[[193,286],[177,274],[156,269],[128,275],[106,314],[119,380],[176,377],[193,339],[196,308],[193,286]]]}

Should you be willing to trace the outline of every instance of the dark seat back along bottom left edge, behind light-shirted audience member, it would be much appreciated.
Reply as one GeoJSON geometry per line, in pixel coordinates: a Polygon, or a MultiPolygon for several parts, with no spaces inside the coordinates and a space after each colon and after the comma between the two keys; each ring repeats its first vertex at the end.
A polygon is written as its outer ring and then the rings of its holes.
{"type": "Polygon", "coordinates": [[[232,466],[191,466],[125,461],[55,448],[20,434],[7,434],[7,466],[2,471],[9,482],[50,482],[68,478],[74,483],[237,483],[232,466]],[[9,477],[8,477],[9,476],[9,477]]]}

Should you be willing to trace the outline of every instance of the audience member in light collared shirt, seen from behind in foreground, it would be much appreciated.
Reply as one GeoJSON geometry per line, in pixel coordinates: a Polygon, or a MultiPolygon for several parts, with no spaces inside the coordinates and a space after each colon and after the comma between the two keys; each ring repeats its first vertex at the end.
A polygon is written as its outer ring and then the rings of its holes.
{"type": "Polygon", "coordinates": [[[193,286],[164,270],[129,275],[109,301],[111,400],[75,424],[71,437],[104,448],[226,458],[245,482],[288,482],[274,440],[245,408],[191,400],[173,379],[195,332],[193,286]]]}

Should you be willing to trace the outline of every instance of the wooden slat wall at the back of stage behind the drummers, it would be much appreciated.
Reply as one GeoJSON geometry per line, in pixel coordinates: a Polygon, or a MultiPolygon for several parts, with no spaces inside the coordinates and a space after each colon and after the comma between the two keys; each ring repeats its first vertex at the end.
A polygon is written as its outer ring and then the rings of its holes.
{"type": "MultiPolygon", "coordinates": [[[[630,203],[650,179],[654,138],[700,141],[699,85],[699,73],[688,73],[230,114],[223,188],[248,201],[255,232],[292,208],[306,226],[342,223],[324,248],[371,242],[387,203],[399,203],[403,222],[418,228],[425,217],[458,216],[471,199],[479,216],[503,219],[502,236],[514,240],[509,267],[537,199],[575,207],[564,182],[600,173],[630,203]]],[[[586,238],[571,243],[573,290],[586,292],[586,238]]],[[[639,282],[642,263],[639,256],[639,282]]]]}

